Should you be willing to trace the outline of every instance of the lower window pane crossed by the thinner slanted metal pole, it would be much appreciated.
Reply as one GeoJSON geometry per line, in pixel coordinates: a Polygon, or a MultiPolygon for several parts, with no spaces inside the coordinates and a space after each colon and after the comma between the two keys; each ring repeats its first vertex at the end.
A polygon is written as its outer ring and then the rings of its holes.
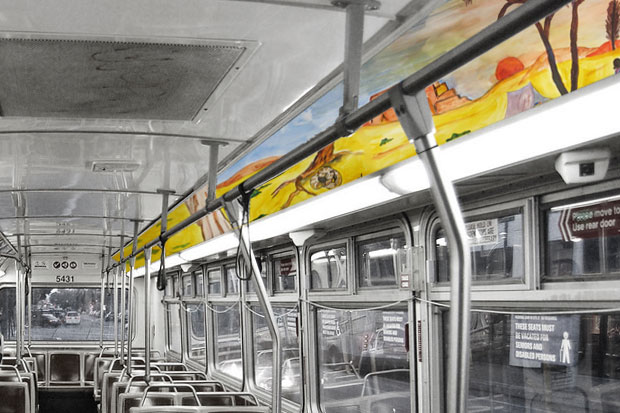
{"type": "MultiPolygon", "coordinates": [[[[252,306],[254,332],[254,380],[256,385],[271,390],[273,349],[267,322],[259,306],[252,306]]],[[[282,396],[299,403],[301,398],[301,366],[297,337],[297,306],[274,307],[282,340],[282,396]]]]}

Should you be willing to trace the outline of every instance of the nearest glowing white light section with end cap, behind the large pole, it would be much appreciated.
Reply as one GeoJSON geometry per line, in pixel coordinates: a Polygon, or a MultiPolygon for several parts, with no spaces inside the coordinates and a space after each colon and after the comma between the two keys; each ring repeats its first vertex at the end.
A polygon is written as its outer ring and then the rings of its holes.
{"type": "MultiPolygon", "coordinates": [[[[601,80],[441,146],[444,172],[458,181],[617,134],[619,80],[601,80]]],[[[422,167],[418,157],[407,159],[383,181],[400,194],[425,189],[411,179],[422,167]]]]}

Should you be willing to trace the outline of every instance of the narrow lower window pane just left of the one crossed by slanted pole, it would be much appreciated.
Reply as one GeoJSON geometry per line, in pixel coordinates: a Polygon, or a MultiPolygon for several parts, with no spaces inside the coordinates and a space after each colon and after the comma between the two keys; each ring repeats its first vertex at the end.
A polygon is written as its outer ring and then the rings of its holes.
{"type": "Polygon", "coordinates": [[[215,363],[216,368],[239,380],[243,377],[239,308],[215,305],[215,363]]]}

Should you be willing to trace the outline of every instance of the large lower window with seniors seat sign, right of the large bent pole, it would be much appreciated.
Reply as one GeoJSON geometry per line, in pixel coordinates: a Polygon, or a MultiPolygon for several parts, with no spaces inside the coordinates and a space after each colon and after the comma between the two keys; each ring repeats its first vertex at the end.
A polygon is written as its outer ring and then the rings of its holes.
{"type": "Polygon", "coordinates": [[[472,313],[469,411],[618,412],[618,354],[620,314],[472,313]]]}

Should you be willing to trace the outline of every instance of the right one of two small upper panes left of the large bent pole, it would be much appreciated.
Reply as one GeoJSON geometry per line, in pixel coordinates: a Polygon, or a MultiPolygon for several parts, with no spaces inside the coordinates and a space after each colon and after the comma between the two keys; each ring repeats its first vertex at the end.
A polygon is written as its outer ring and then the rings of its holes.
{"type": "Polygon", "coordinates": [[[400,257],[406,253],[403,234],[385,236],[358,243],[360,287],[399,285],[400,257]]]}

